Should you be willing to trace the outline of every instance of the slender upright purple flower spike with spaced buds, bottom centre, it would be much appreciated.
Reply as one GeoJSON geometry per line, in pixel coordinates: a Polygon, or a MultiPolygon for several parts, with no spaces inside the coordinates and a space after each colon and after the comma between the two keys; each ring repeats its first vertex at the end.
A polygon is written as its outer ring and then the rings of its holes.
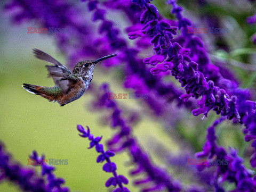
{"type": "Polygon", "coordinates": [[[103,149],[103,145],[99,144],[102,137],[94,137],[90,133],[89,127],[86,126],[86,128],[87,130],[85,130],[83,126],[79,124],[77,125],[77,130],[81,133],[79,134],[79,136],[88,138],[91,141],[89,149],[95,147],[96,151],[100,153],[100,155],[97,157],[97,163],[102,163],[106,161],[106,163],[103,165],[103,168],[102,168],[103,171],[113,173],[114,177],[110,177],[106,181],[105,183],[106,187],[109,187],[111,185],[113,185],[114,187],[118,186],[113,192],[129,192],[129,190],[123,186],[123,184],[125,185],[128,184],[128,180],[122,175],[119,175],[119,176],[117,175],[116,164],[110,161],[109,157],[113,157],[115,153],[111,151],[105,152],[103,149]]]}

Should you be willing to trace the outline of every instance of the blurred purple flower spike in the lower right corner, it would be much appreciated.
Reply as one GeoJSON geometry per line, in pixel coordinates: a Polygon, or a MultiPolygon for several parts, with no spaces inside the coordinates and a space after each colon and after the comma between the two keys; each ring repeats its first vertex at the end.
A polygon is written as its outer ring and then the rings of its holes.
{"type": "MultiPolygon", "coordinates": [[[[226,160],[227,164],[218,165],[217,172],[215,174],[216,182],[220,181],[229,181],[234,182],[236,189],[233,192],[253,192],[256,190],[256,181],[253,178],[252,174],[245,169],[243,165],[243,158],[237,155],[237,151],[233,148],[229,149],[229,154],[226,152],[226,149],[219,147],[216,143],[217,137],[215,136],[214,127],[221,123],[224,118],[220,118],[214,121],[213,125],[207,129],[206,142],[203,146],[203,151],[196,153],[196,157],[207,157],[208,163],[206,165],[198,165],[198,170],[203,170],[205,168],[210,168],[212,165],[211,161],[214,160],[226,160]]],[[[216,183],[216,188],[218,183],[216,183]]],[[[218,190],[217,190],[218,191],[218,190]]],[[[224,191],[221,189],[221,191],[224,191]]]]}

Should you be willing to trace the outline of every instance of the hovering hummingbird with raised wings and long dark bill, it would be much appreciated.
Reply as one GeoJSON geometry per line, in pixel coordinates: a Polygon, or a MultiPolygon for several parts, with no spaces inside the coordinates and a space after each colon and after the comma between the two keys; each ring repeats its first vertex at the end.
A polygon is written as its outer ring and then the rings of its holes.
{"type": "Polygon", "coordinates": [[[84,94],[92,81],[95,64],[116,56],[116,54],[113,54],[101,57],[95,61],[80,61],[74,66],[73,72],[71,72],[66,66],[62,65],[47,53],[44,53],[39,49],[33,49],[33,53],[38,59],[54,65],[46,65],[46,68],[49,72],[48,77],[52,77],[55,86],[43,87],[23,84],[22,87],[29,93],[40,95],[50,102],[57,101],[60,106],[73,102],[84,94]]]}

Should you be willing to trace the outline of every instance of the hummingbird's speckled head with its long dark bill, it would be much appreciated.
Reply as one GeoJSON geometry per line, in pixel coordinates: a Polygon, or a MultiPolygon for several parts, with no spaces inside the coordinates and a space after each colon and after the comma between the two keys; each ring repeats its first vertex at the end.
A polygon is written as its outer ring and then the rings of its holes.
{"type": "Polygon", "coordinates": [[[116,54],[113,55],[108,55],[105,57],[101,57],[98,60],[92,61],[92,60],[84,60],[84,61],[79,61],[73,69],[73,73],[77,73],[79,77],[83,78],[84,81],[91,81],[92,76],[93,76],[93,70],[95,64],[102,60],[106,60],[110,57],[114,57],[116,54]]]}

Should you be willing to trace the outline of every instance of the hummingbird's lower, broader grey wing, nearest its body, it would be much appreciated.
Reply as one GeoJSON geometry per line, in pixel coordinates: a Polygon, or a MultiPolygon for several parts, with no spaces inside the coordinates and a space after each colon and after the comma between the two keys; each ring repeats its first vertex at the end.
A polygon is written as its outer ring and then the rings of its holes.
{"type": "Polygon", "coordinates": [[[76,84],[79,78],[72,75],[72,73],[59,66],[46,65],[49,77],[52,77],[55,85],[59,86],[63,94],[67,94],[70,87],[76,84]]]}

